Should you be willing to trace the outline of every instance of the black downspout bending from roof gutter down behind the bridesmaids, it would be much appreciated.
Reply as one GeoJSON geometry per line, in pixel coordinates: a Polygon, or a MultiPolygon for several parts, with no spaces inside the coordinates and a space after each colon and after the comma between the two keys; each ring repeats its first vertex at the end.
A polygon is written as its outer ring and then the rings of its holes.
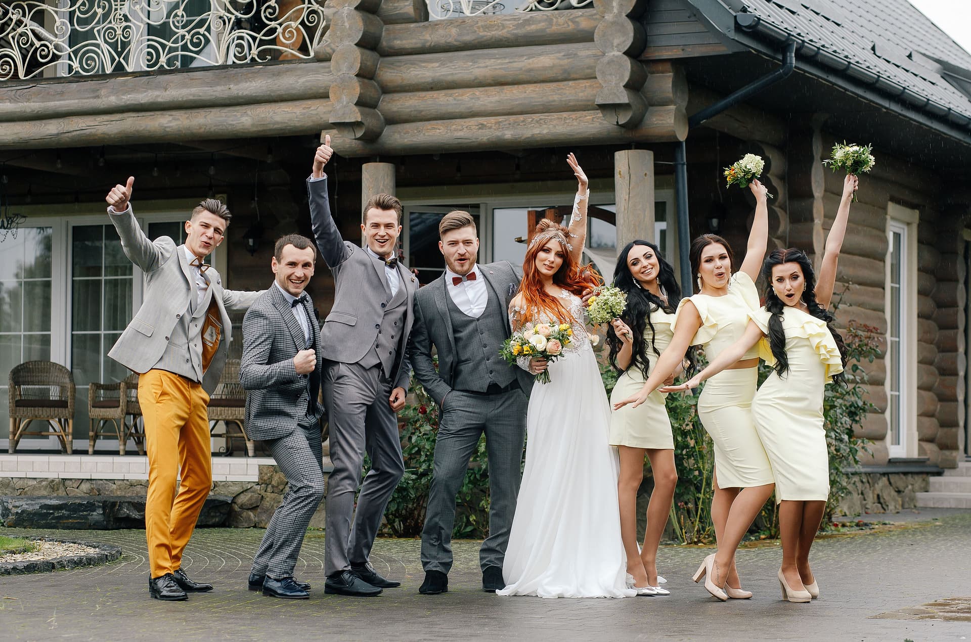
{"type": "MultiPolygon", "coordinates": [[[[783,66],[772,71],[750,84],[746,84],[738,91],[722,98],[714,105],[709,105],[691,118],[687,119],[688,131],[691,127],[700,125],[709,118],[718,116],[729,107],[734,107],[749,96],[758,93],[770,84],[776,84],[787,78],[795,69],[795,41],[790,40],[783,52],[783,66]]],[[[688,261],[690,251],[690,229],[687,216],[687,162],[686,145],[681,141],[674,149],[674,189],[678,207],[678,253],[681,255],[681,287],[687,294],[693,290],[691,283],[691,264],[688,261]]]]}

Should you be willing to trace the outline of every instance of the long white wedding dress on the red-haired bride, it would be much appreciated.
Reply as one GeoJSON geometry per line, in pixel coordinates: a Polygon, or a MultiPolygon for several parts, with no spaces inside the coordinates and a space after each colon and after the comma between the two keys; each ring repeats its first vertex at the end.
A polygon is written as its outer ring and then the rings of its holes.
{"type": "MultiPolygon", "coordinates": [[[[581,300],[564,299],[574,320],[583,320],[581,300]]],[[[533,384],[529,398],[526,465],[499,595],[635,594],[625,583],[610,403],[586,326],[574,320],[570,348],[550,365],[551,382],[533,384]]]]}

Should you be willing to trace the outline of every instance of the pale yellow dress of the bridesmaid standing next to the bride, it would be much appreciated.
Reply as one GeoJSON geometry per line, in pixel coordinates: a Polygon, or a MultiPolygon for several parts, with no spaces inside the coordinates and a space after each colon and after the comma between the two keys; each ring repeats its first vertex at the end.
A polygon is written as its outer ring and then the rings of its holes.
{"type": "MultiPolygon", "coordinates": [[[[631,366],[619,376],[617,386],[611,392],[611,403],[637,394],[644,387],[657,363],[657,355],[671,343],[674,332],[671,323],[674,315],[667,314],[656,305],[651,306],[651,323],[644,325],[644,352],[648,356],[648,373],[645,376],[640,368],[631,366]],[[654,326],[653,335],[651,325],[654,326]],[[657,351],[656,353],[654,351],[657,351]]],[[[671,419],[664,406],[666,394],[654,390],[647,401],[637,408],[630,404],[615,410],[610,421],[610,445],[631,448],[674,449],[674,436],[671,434],[671,419]]]]}

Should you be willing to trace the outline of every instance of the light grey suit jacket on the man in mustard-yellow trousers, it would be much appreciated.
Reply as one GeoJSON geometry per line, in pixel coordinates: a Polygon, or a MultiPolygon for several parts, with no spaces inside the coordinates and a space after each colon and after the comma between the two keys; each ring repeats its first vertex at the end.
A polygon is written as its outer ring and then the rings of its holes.
{"type": "MultiPolygon", "coordinates": [[[[125,256],[145,272],[148,285],[142,307],[135,318],[128,322],[128,327],[108,355],[129,370],[144,374],[165,352],[172,328],[188,309],[189,297],[195,292],[195,278],[183,246],[176,246],[176,242],[168,236],[150,241],[135,220],[130,203],[128,209],[121,213],[109,208],[109,218],[121,237],[121,249],[125,256]]],[[[222,279],[214,268],[209,268],[206,276],[213,288],[213,300],[218,305],[222,321],[222,339],[202,378],[203,389],[212,394],[219,383],[232,340],[232,323],[226,310],[246,310],[260,293],[224,289],[222,279]]]]}

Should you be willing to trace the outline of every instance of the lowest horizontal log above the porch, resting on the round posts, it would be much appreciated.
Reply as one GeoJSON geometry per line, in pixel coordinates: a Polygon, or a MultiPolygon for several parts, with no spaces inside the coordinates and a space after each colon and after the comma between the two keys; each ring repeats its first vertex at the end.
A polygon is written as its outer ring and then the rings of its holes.
{"type": "Polygon", "coordinates": [[[364,156],[674,141],[684,138],[686,120],[676,107],[653,107],[634,129],[612,125],[594,111],[406,122],[387,125],[373,143],[324,133],[335,136],[335,147],[342,155],[364,156]]]}

